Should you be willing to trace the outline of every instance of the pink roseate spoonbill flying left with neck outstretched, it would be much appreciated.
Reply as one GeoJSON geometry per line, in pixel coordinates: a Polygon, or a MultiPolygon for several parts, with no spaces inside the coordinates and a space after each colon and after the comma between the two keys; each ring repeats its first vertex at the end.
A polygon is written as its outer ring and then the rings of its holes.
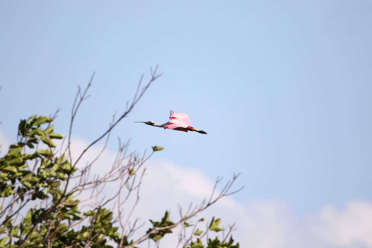
{"type": "Polygon", "coordinates": [[[192,126],[189,126],[190,124],[190,119],[189,116],[187,116],[185,113],[175,113],[175,111],[172,112],[170,110],[170,116],[169,116],[170,121],[166,122],[164,124],[156,124],[152,120],[149,122],[142,122],[150,126],[158,126],[159,128],[164,128],[164,129],[174,129],[178,131],[183,131],[183,132],[188,132],[188,131],[194,131],[198,133],[204,133],[207,134],[204,131],[199,131],[196,128],[193,128],[192,126]]]}

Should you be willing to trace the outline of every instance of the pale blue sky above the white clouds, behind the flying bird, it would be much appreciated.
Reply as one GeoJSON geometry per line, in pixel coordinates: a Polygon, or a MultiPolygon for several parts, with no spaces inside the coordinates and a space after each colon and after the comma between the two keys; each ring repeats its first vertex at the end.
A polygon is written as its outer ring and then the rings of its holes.
{"type": "Polygon", "coordinates": [[[212,181],[241,173],[241,204],[283,201],[296,215],[372,204],[371,11],[370,1],[2,1],[0,131],[15,141],[19,119],[59,107],[55,130],[67,133],[77,85],[95,71],[73,131],[93,141],[159,65],[112,151],[131,138],[212,181]],[[133,123],[167,122],[170,109],[208,135],[133,123]]]}

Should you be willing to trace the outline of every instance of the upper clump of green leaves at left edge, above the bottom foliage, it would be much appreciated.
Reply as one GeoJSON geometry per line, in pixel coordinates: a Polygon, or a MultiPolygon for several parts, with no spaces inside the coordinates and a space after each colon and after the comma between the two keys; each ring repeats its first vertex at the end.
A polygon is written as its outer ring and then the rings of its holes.
{"type": "Polygon", "coordinates": [[[66,174],[73,173],[76,168],[71,167],[64,155],[61,158],[54,156],[51,148],[55,144],[52,139],[61,139],[63,136],[54,133],[53,125],[40,128],[51,121],[52,118],[47,116],[32,116],[27,121],[20,121],[18,142],[10,145],[9,152],[0,159],[0,197],[16,195],[21,202],[29,194],[32,194],[32,200],[45,199],[48,194],[54,199],[61,198],[62,192],[56,189],[67,179],[66,174]],[[48,149],[22,154],[26,146],[34,148],[39,141],[47,144],[48,149]],[[36,171],[30,170],[28,163],[31,161],[39,164],[36,171]]]}

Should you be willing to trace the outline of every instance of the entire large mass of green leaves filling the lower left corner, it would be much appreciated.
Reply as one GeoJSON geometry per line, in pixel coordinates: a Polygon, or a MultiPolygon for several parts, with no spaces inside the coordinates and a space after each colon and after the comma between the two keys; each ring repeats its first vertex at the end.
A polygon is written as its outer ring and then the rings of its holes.
{"type": "Polygon", "coordinates": [[[52,118],[47,116],[21,120],[18,142],[10,145],[8,153],[0,158],[0,198],[9,203],[0,206],[0,247],[45,247],[48,244],[49,247],[110,248],[106,244],[108,238],[119,244],[121,236],[118,227],[113,227],[112,212],[99,207],[81,213],[79,200],[66,193],[64,183],[77,168],[64,154],[61,157],[54,154],[53,139],[63,136],[54,133],[51,122],[52,118]],[[41,128],[43,124],[47,125],[45,129],[41,128]],[[35,148],[40,141],[47,149],[35,148]],[[26,153],[26,147],[33,152],[26,153]],[[47,199],[48,204],[42,204],[45,207],[36,205],[47,199]],[[34,207],[16,221],[14,217],[19,211],[33,201],[34,207]],[[73,229],[73,223],[83,218],[89,225],[73,229]]]}

